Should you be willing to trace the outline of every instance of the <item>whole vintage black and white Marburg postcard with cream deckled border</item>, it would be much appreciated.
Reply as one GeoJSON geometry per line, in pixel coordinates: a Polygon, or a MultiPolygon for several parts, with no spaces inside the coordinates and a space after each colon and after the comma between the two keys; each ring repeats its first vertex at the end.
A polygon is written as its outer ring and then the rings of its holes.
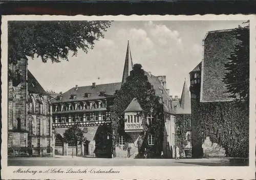
{"type": "Polygon", "coordinates": [[[3,179],[253,179],[255,16],[3,16],[3,179]]]}

